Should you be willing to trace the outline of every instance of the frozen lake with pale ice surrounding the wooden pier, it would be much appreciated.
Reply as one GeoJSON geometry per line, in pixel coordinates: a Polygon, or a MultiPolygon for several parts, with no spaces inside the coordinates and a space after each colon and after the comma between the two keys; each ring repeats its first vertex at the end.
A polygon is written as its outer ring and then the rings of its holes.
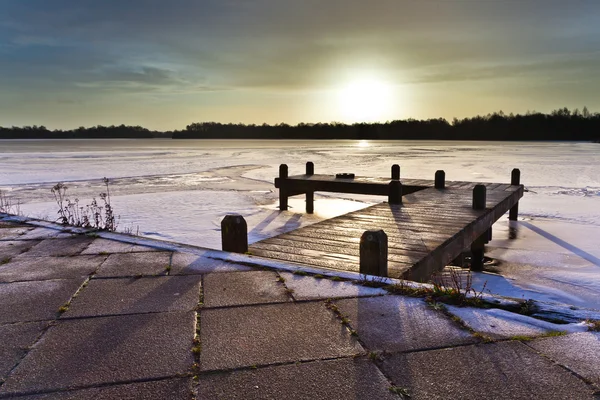
{"type": "Polygon", "coordinates": [[[55,219],[50,188],[65,182],[84,204],[111,179],[120,228],[220,248],[220,220],[240,213],[250,240],[345,213],[384,199],[317,193],[315,215],[302,197],[279,212],[273,178],[313,161],[317,173],[352,172],[448,180],[510,181],[521,170],[528,190],[520,220],[494,226],[488,255],[502,276],[477,274],[493,292],[600,309],[600,145],[593,143],[433,141],[0,140],[0,190],[25,214],[55,219]]]}

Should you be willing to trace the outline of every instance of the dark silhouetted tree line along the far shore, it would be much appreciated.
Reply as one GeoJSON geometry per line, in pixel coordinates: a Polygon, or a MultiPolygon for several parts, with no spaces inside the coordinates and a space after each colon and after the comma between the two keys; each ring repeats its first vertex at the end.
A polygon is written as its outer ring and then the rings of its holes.
{"type": "Polygon", "coordinates": [[[600,113],[568,108],[544,114],[502,111],[448,121],[406,119],[385,123],[288,125],[197,122],[184,130],[150,131],[140,126],[96,126],[50,131],[43,126],[0,127],[0,139],[368,139],[368,140],[600,140],[600,113]]]}

